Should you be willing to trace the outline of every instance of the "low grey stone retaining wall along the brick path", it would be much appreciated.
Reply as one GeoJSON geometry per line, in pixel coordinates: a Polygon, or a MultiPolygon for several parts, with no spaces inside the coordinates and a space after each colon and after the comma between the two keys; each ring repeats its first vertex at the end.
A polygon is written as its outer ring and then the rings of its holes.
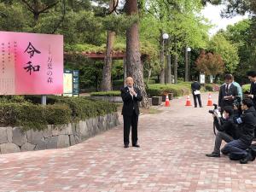
{"type": "Polygon", "coordinates": [[[119,125],[118,113],[61,125],[59,128],[48,125],[48,129],[44,131],[21,131],[20,127],[0,127],[0,153],[67,148],[116,125],[119,125]]]}

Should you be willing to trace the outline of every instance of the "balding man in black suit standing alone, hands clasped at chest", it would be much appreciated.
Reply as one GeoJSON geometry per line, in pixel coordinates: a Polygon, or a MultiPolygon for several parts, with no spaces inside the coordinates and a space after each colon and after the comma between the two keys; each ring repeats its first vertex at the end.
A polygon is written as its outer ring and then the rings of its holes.
{"type": "Polygon", "coordinates": [[[129,135],[131,129],[132,147],[139,148],[137,144],[137,122],[139,116],[138,102],[143,100],[141,91],[133,86],[133,79],[128,77],[125,79],[125,88],[121,89],[121,96],[124,102],[122,115],[124,118],[124,144],[125,148],[129,148],[129,135]]]}

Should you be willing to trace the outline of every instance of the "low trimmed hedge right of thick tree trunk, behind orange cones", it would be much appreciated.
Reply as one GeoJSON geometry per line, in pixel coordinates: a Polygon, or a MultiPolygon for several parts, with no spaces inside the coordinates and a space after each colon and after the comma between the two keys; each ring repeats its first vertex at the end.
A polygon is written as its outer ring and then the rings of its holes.
{"type": "Polygon", "coordinates": [[[148,84],[148,96],[162,96],[172,92],[173,96],[185,96],[190,92],[188,84],[148,84]]]}

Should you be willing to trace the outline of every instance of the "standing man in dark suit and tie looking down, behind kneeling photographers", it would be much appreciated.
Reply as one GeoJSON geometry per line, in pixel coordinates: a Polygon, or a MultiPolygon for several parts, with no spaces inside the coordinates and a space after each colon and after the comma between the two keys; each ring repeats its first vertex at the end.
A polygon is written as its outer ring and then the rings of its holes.
{"type": "MultiPolygon", "coordinates": [[[[225,106],[232,106],[236,102],[238,96],[237,87],[232,84],[232,75],[225,75],[225,84],[221,85],[218,93],[218,106],[224,108],[225,106]]],[[[223,110],[222,110],[223,111],[223,110]]]]}

